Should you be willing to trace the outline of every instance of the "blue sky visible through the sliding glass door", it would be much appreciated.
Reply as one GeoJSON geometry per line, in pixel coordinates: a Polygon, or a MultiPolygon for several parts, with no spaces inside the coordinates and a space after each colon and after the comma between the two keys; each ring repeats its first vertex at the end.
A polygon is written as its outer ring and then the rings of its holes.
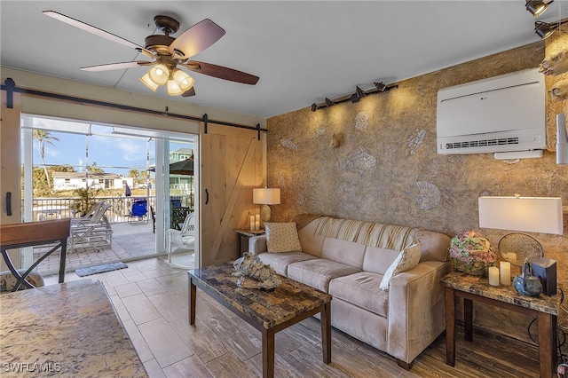
{"type": "MultiPolygon", "coordinates": [[[[128,176],[130,169],[146,170],[155,163],[154,139],[137,138],[113,134],[113,128],[104,125],[61,120],[40,119],[34,117],[35,128],[45,128],[52,138],[51,144],[45,143],[45,164],[71,165],[75,171],[84,171],[87,164],[93,162],[107,173],[128,176]],[[57,122],[57,123],[53,123],[57,122]],[[61,132],[53,129],[79,130],[91,126],[91,135],[61,132]],[[149,154],[147,154],[149,148],[149,154]]],[[[136,130],[134,130],[136,132],[136,130]]],[[[24,138],[22,138],[24,140],[24,138]]],[[[192,145],[170,143],[170,151],[178,148],[192,148],[192,145]]],[[[22,148],[22,154],[24,149],[22,148]]],[[[33,141],[34,166],[40,166],[39,142],[33,141]]]]}

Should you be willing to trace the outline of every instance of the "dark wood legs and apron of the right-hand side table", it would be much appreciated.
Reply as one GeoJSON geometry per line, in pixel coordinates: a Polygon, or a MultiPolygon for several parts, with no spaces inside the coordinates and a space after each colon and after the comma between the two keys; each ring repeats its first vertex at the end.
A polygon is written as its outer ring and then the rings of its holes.
{"type": "Polygon", "coordinates": [[[557,316],[548,312],[537,311],[517,304],[501,302],[464,292],[453,287],[446,287],[446,364],[455,366],[455,297],[463,298],[463,323],[465,339],[473,341],[473,301],[484,303],[509,311],[516,311],[538,319],[540,377],[548,378],[556,371],[556,324],[557,316]]]}

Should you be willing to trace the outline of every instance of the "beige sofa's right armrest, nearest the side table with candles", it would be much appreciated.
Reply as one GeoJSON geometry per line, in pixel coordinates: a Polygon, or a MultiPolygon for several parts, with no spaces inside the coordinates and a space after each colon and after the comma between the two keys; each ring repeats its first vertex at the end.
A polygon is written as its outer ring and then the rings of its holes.
{"type": "Polygon", "coordinates": [[[411,364],[446,328],[444,287],[451,264],[425,261],[390,280],[387,353],[411,364]]]}

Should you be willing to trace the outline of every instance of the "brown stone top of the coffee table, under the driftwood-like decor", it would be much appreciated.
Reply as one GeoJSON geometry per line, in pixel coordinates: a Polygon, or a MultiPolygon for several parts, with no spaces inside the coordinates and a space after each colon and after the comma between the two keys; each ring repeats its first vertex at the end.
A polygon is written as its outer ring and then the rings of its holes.
{"type": "Polygon", "coordinates": [[[266,329],[331,301],[331,295],[280,275],[280,285],[272,290],[237,287],[239,277],[233,272],[233,263],[225,263],[193,269],[189,275],[266,329]]]}

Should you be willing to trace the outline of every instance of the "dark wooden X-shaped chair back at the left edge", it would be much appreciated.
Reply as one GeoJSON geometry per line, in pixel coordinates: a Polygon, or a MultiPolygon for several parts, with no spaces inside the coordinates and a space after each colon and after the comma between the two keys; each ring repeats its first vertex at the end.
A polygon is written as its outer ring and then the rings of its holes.
{"type": "Polygon", "coordinates": [[[0,250],[4,257],[4,262],[17,282],[12,288],[12,291],[18,290],[21,286],[33,288],[34,286],[26,280],[30,272],[36,269],[43,259],[50,256],[51,253],[61,248],[61,255],[59,258],[59,283],[65,280],[65,263],[67,260],[67,237],[69,236],[71,228],[71,219],[60,219],[53,221],[43,222],[28,222],[19,224],[2,224],[0,226],[0,250]],[[20,274],[12,259],[8,254],[8,249],[24,248],[32,246],[41,246],[44,244],[51,244],[59,242],[55,247],[51,248],[48,252],[43,254],[36,263],[32,264],[26,272],[20,274]]]}

